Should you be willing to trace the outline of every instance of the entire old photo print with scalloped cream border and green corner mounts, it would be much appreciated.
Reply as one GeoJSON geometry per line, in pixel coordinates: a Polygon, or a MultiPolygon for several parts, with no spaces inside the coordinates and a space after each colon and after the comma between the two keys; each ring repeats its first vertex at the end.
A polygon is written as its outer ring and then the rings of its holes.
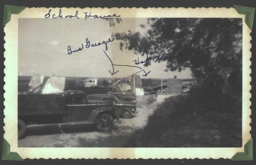
{"type": "Polygon", "coordinates": [[[3,159],[250,160],[243,10],[10,6],[3,159]]]}

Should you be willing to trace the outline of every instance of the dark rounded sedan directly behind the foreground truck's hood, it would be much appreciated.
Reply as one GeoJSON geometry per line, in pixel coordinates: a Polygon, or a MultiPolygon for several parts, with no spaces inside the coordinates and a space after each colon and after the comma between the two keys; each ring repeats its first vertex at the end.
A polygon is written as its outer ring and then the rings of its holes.
{"type": "Polygon", "coordinates": [[[89,95],[87,96],[89,101],[98,100],[98,101],[111,101],[113,102],[116,108],[116,114],[122,116],[125,119],[129,119],[133,116],[133,114],[138,113],[136,109],[136,103],[130,101],[120,101],[114,95],[108,94],[97,94],[97,95],[89,95]]]}

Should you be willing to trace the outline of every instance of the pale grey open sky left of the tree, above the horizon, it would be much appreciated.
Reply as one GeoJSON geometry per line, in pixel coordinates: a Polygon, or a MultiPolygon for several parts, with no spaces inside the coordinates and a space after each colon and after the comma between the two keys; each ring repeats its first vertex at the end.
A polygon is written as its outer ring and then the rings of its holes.
{"type": "MultiPolygon", "coordinates": [[[[113,39],[113,33],[132,32],[145,33],[147,28],[141,29],[139,25],[146,23],[146,18],[122,18],[121,23],[114,27],[103,19],[45,19],[45,18],[19,18],[18,20],[18,74],[19,76],[63,76],[63,77],[127,77],[140,71],[136,67],[115,66],[115,75],[111,75],[112,64],[103,51],[110,57],[114,64],[135,65],[133,60],[137,55],[133,51],[119,48],[120,41],[108,42],[105,45],[85,48],[86,38],[92,43],[113,39]],[[68,55],[68,46],[71,50],[81,51],[68,55]]],[[[140,60],[145,57],[140,57],[140,60]]],[[[154,63],[142,67],[146,72],[151,71],[146,77],[143,72],[141,78],[191,78],[189,69],[182,72],[164,72],[165,62],[154,63]]]]}

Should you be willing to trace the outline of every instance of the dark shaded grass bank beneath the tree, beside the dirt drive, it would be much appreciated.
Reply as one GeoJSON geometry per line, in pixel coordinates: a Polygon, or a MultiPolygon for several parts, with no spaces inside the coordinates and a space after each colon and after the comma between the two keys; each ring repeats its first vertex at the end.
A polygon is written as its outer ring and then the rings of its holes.
{"type": "Polygon", "coordinates": [[[241,147],[241,102],[199,92],[165,99],[124,147],[241,147]]]}

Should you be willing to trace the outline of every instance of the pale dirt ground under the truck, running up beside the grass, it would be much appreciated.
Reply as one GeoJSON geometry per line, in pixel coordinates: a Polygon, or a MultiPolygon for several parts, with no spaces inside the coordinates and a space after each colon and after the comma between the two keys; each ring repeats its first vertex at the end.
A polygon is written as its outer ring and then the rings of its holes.
{"type": "Polygon", "coordinates": [[[127,137],[136,129],[146,124],[148,114],[151,114],[159,104],[148,104],[148,96],[137,97],[139,113],[132,119],[115,121],[115,127],[110,132],[97,132],[88,124],[76,123],[65,125],[31,125],[27,128],[27,136],[18,140],[19,147],[122,147],[127,137]]]}

